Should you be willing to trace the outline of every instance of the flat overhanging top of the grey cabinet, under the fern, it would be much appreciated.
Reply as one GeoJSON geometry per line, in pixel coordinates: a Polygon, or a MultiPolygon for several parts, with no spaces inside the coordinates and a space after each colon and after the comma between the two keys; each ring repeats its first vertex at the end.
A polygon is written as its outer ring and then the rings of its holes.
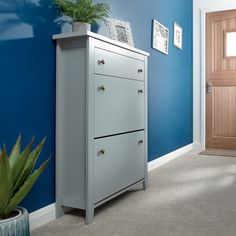
{"type": "Polygon", "coordinates": [[[143,54],[145,56],[150,55],[148,52],[139,50],[137,48],[134,48],[134,47],[129,46],[127,44],[115,41],[115,40],[107,38],[107,37],[104,37],[102,35],[95,34],[91,31],[87,31],[85,34],[80,34],[78,32],[70,32],[70,33],[63,33],[63,34],[53,35],[54,40],[66,40],[66,39],[71,39],[71,38],[82,38],[82,37],[92,37],[92,38],[95,38],[95,39],[98,39],[98,40],[101,40],[101,41],[104,41],[104,42],[107,42],[107,43],[110,43],[110,44],[113,44],[113,45],[116,45],[116,46],[119,46],[119,47],[122,47],[122,48],[125,48],[125,49],[128,49],[130,51],[134,51],[134,52],[143,54]]]}

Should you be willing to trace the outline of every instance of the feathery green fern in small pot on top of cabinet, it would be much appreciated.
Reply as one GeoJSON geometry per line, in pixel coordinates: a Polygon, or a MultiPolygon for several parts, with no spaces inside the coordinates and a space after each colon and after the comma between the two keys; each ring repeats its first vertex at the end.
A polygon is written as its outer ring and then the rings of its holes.
{"type": "Polygon", "coordinates": [[[54,0],[55,5],[72,19],[72,31],[85,33],[97,20],[105,20],[110,12],[107,3],[93,4],[92,0],[54,0]]]}

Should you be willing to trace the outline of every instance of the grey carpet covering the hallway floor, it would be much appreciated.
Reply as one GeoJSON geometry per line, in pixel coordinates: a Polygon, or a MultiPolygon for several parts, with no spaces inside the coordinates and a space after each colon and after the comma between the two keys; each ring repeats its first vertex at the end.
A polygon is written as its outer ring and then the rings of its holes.
{"type": "Polygon", "coordinates": [[[149,174],[132,191],[96,211],[87,226],[78,211],[31,236],[236,236],[236,159],[185,154],[149,174]]]}

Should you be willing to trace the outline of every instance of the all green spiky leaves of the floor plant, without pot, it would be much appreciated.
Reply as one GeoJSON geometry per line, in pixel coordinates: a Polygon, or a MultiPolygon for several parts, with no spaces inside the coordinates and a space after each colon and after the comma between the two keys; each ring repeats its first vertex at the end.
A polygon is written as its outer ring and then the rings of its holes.
{"type": "Polygon", "coordinates": [[[49,159],[33,172],[35,163],[43,149],[45,138],[31,151],[33,141],[34,137],[21,152],[21,136],[19,135],[9,158],[5,145],[0,152],[0,219],[9,216],[11,211],[28,194],[47,166],[49,159]]]}

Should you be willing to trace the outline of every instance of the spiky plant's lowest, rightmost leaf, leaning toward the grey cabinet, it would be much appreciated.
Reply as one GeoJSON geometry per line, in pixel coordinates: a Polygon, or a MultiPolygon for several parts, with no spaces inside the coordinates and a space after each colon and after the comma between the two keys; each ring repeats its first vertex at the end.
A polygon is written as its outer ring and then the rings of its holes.
{"type": "Polygon", "coordinates": [[[8,215],[29,193],[29,191],[31,190],[32,186],[34,185],[40,174],[46,168],[49,160],[50,159],[47,159],[45,162],[43,162],[43,164],[37,170],[35,170],[33,174],[25,181],[25,183],[22,185],[19,191],[10,200],[7,208],[4,211],[4,215],[8,215]]]}

